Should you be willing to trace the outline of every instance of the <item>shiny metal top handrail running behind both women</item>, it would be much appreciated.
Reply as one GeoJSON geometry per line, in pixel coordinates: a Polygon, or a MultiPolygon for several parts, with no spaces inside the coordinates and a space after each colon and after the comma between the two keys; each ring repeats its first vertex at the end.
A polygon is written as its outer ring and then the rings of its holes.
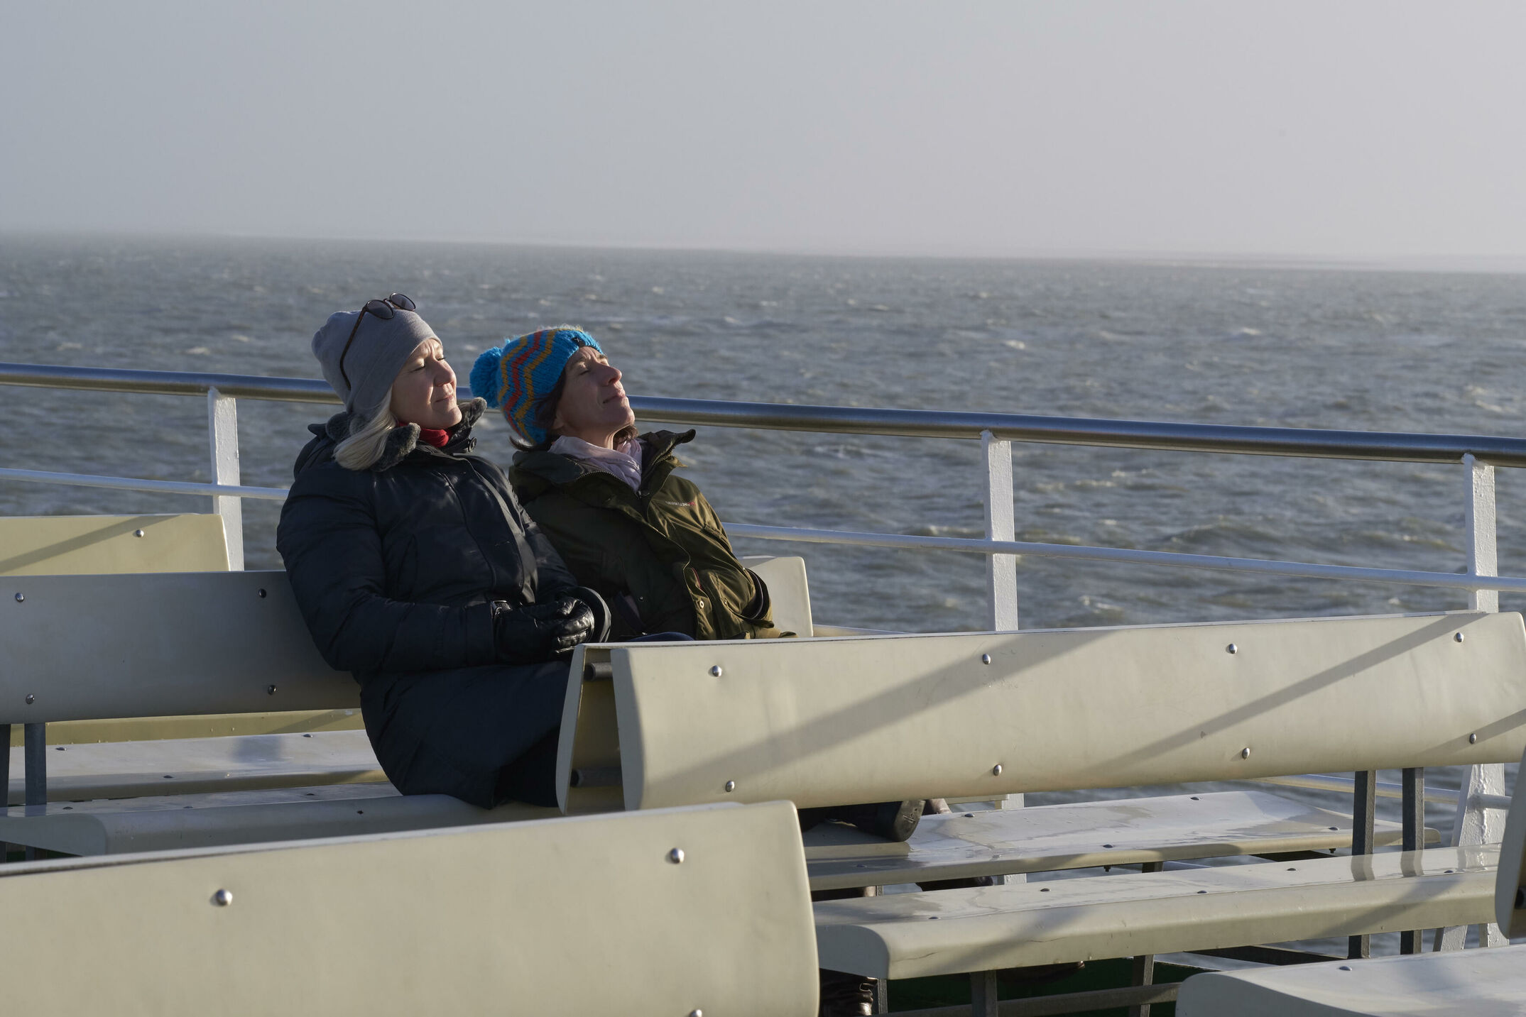
{"type": "MultiPolygon", "coordinates": [[[[125,371],[118,367],[0,363],[0,384],[157,395],[203,395],[208,389],[217,389],[223,395],[247,399],[325,404],[339,401],[328,384],[316,378],[125,371]]],[[[461,389],[461,395],[465,398],[470,392],[461,389]]],[[[644,421],[684,425],[708,424],[836,435],[958,439],[978,439],[981,432],[989,430],[1003,441],[1059,445],[1437,464],[1460,462],[1463,456],[1471,454],[1480,462],[1497,467],[1526,467],[1526,439],[1488,435],[1236,427],[1025,413],[726,403],[664,396],[633,396],[630,404],[644,421]]]]}

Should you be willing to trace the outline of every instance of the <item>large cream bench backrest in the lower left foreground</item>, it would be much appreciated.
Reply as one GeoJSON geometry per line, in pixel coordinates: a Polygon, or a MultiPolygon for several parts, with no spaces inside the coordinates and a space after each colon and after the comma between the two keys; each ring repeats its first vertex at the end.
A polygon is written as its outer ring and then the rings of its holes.
{"type": "Polygon", "coordinates": [[[186,854],[0,866],[11,1012],[816,1012],[787,802],[186,854]]]}

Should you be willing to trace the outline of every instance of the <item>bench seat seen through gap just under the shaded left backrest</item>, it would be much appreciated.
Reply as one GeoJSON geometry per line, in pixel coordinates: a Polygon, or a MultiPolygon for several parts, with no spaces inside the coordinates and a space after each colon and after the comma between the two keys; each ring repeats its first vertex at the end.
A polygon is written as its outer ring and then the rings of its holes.
{"type": "MultiPolygon", "coordinates": [[[[11,749],[11,805],[26,800],[21,752],[11,749]]],[[[47,749],[47,797],[52,802],[378,781],[386,781],[386,775],[363,730],[47,749]]]]}

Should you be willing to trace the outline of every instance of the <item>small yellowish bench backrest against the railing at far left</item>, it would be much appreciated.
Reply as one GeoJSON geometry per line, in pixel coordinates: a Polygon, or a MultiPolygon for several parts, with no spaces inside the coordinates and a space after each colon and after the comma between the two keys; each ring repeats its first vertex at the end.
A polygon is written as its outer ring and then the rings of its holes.
{"type": "Polygon", "coordinates": [[[0,575],[111,572],[227,572],[223,517],[0,517],[0,575]]]}

